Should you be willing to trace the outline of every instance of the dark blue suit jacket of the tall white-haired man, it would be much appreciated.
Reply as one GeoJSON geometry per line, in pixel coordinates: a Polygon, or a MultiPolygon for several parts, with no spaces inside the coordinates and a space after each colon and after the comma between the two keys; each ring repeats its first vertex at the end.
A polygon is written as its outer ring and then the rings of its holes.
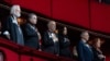
{"type": "Polygon", "coordinates": [[[10,38],[13,42],[16,42],[19,45],[24,45],[23,34],[22,30],[20,33],[19,28],[20,26],[14,24],[12,21],[13,17],[10,15],[8,20],[6,21],[4,30],[8,30],[10,33],[10,38]]]}

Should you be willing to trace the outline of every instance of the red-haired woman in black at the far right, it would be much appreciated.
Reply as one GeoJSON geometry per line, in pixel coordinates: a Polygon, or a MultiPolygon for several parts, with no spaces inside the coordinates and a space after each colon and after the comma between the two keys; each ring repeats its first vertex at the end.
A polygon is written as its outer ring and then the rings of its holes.
{"type": "Polygon", "coordinates": [[[106,57],[102,54],[100,50],[101,47],[101,39],[95,38],[92,40],[92,52],[94,52],[94,61],[105,61],[106,57]]]}

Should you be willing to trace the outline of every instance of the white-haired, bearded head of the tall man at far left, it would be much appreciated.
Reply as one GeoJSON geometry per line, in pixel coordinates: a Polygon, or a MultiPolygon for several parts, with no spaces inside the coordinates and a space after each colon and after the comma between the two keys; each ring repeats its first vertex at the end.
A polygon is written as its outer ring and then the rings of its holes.
{"type": "Polygon", "coordinates": [[[20,17],[21,16],[20,5],[18,5],[18,4],[12,5],[10,14],[14,15],[15,17],[20,17]]]}

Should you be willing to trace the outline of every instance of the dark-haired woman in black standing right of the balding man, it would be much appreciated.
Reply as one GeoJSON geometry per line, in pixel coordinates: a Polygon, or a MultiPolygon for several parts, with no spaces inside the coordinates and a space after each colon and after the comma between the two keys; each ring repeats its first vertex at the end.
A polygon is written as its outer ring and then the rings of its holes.
{"type": "Polygon", "coordinates": [[[59,56],[72,58],[69,50],[70,41],[67,37],[67,27],[59,30],[59,56]]]}

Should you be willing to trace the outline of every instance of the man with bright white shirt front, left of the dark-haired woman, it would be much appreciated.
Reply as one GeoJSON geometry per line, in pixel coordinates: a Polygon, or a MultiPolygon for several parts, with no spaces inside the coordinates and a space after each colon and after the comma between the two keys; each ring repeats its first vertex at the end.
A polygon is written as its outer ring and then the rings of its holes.
{"type": "Polygon", "coordinates": [[[48,22],[47,27],[48,27],[48,30],[45,32],[44,37],[43,37],[44,51],[58,56],[59,42],[58,42],[58,36],[55,33],[56,23],[54,21],[51,21],[48,22]]]}

